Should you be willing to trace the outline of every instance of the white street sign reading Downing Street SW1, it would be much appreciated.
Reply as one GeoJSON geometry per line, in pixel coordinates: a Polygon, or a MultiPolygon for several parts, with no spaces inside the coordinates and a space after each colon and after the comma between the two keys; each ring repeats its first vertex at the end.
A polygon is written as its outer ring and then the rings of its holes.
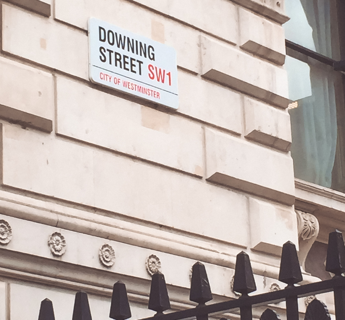
{"type": "Polygon", "coordinates": [[[178,108],[174,48],[90,18],[89,50],[92,82],[178,108]]]}

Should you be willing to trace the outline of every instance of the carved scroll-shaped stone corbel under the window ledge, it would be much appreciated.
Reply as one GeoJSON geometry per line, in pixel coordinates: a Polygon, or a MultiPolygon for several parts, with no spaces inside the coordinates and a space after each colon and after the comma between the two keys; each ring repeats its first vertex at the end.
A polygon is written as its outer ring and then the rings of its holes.
{"type": "Polygon", "coordinates": [[[319,223],[315,216],[310,213],[295,210],[297,214],[298,225],[298,242],[300,247],[299,260],[300,264],[305,269],[305,262],[311,246],[316,240],[319,233],[319,223]]]}

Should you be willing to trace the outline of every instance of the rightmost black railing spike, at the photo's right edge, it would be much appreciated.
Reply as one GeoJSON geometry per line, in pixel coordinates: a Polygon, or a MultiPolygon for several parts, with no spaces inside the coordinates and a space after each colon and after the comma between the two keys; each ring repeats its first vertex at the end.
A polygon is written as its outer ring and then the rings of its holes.
{"type": "Polygon", "coordinates": [[[328,236],[326,271],[341,276],[345,272],[345,246],[342,232],[336,230],[328,236]]]}

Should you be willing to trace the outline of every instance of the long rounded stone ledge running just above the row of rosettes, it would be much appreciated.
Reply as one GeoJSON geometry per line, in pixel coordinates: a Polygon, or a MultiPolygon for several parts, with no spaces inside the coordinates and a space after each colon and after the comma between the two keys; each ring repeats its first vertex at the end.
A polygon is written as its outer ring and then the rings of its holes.
{"type": "MultiPolygon", "coordinates": [[[[30,198],[0,190],[0,212],[6,216],[25,219],[57,228],[94,235],[104,239],[119,241],[131,245],[145,247],[188,257],[219,266],[235,268],[236,254],[239,248],[222,246],[207,241],[200,241],[181,234],[171,234],[164,230],[127,222],[123,219],[109,217],[109,213],[97,214],[71,208],[61,204],[30,198]]],[[[277,279],[279,261],[276,265],[263,264],[252,259],[253,272],[277,279]]],[[[304,275],[307,282],[315,278],[304,275]]]]}

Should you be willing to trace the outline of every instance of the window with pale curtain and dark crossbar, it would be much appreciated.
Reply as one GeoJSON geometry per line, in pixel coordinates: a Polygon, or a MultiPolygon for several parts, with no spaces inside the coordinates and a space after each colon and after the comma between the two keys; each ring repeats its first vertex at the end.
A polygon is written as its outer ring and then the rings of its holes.
{"type": "Polygon", "coordinates": [[[295,177],[345,192],[345,12],[342,0],[285,0],[295,177]],[[335,67],[334,67],[335,66],[335,67]]]}

